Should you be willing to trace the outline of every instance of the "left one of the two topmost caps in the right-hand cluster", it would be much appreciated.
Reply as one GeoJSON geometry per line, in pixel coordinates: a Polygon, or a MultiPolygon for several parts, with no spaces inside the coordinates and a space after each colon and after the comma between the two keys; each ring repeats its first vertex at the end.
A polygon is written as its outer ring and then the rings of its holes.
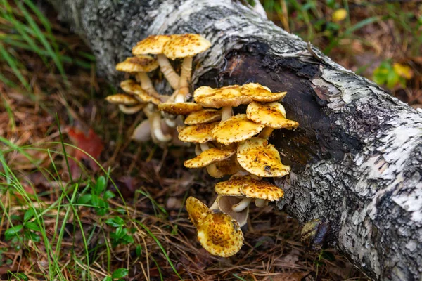
{"type": "Polygon", "coordinates": [[[248,96],[242,95],[241,86],[231,85],[218,89],[202,86],[193,92],[196,103],[203,107],[220,108],[224,106],[236,107],[252,102],[248,96]]]}

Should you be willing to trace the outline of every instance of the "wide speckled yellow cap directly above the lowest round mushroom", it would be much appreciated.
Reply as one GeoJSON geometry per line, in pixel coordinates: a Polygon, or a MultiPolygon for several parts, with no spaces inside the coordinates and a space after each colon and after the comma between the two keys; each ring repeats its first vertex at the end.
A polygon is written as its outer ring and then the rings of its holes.
{"type": "Polygon", "coordinates": [[[217,183],[215,192],[226,196],[238,196],[240,193],[246,197],[269,201],[279,200],[284,195],[283,190],[276,185],[255,180],[251,176],[232,176],[229,181],[217,183]]]}

